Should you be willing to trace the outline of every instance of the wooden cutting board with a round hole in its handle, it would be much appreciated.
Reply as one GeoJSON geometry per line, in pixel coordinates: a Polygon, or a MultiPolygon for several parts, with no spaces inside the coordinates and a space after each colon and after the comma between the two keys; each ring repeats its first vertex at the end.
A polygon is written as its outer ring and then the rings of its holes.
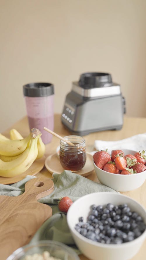
{"type": "Polygon", "coordinates": [[[53,181],[38,177],[25,184],[17,197],[0,196],[0,259],[28,244],[40,226],[52,216],[50,206],[37,202],[53,191],[53,181]]]}

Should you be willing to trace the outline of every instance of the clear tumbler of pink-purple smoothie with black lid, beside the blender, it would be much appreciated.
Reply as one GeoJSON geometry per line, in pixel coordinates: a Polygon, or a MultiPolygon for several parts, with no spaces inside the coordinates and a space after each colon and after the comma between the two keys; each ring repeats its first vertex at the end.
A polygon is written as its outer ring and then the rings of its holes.
{"type": "MultiPolygon", "coordinates": [[[[39,89],[36,89],[33,85],[33,87],[31,87],[31,90],[27,89],[27,90],[25,90],[25,93],[24,93],[26,109],[27,109],[27,116],[28,116],[28,121],[29,121],[29,128],[30,129],[34,128],[34,127],[38,128],[42,133],[42,136],[41,136],[42,141],[44,142],[44,144],[48,144],[52,140],[52,135],[50,133],[46,132],[43,128],[45,126],[52,131],[54,129],[54,109],[53,109],[54,94],[53,94],[53,92],[51,92],[51,95],[47,95],[47,96],[43,96],[43,97],[30,97],[30,95],[32,95],[32,93],[34,93],[33,95],[35,95],[36,93],[40,94],[42,87],[44,87],[44,84],[47,84],[47,83],[34,83],[34,84],[39,84],[39,89]],[[33,88],[34,88],[34,92],[32,92],[33,88]],[[28,93],[29,93],[29,96],[27,96],[28,93]]],[[[48,84],[50,84],[50,83],[48,83],[48,84]]],[[[31,84],[28,84],[28,85],[31,85],[31,84]]],[[[28,86],[28,85],[25,85],[25,86],[28,86]]],[[[36,87],[38,88],[38,85],[36,85],[36,87]]],[[[48,94],[48,93],[46,93],[46,89],[44,89],[44,91],[45,92],[41,91],[41,95],[48,94]]]]}

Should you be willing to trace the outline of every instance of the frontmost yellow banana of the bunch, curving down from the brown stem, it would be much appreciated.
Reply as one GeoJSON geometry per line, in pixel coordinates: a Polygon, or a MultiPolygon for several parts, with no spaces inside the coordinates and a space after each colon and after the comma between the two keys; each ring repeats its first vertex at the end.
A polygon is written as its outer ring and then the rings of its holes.
{"type": "Polygon", "coordinates": [[[32,165],[38,154],[37,137],[31,139],[29,147],[13,161],[0,160],[0,176],[14,177],[25,171],[32,165]]]}

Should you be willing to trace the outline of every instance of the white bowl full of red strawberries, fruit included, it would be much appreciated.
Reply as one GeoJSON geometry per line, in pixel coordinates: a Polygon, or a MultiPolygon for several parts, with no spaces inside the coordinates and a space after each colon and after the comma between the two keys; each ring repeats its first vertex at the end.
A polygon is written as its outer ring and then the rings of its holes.
{"type": "Polygon", "coordinates": [[[145,151],[128,149],[97,151],[93,155],[93,165],[98,180],[119,192],[139,188],[146,179],[145,151]]]}

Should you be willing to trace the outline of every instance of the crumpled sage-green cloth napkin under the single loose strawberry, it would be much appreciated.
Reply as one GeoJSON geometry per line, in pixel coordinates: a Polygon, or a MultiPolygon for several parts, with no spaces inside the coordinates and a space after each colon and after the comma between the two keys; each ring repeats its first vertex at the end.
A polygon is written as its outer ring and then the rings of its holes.
{"type": "MultiPolygon", "coordinates": [[[[23,180],[12,184],[0,184],[0,195],[19,196],[25,191],[25,183],[35,176],[27,175],[23,180]]],[[[69,231],[66,214],[59,211],[58,200],[60,197],[68,196],[74,202],[79,197],[93,192],[116,192],[111,188],[93,182],[83,176],[72,173],[71,171],[63,171],[61,174],[53,174],[54,191],[39,199],[39,202],[49,204],[52,208],[52,216],[44,222],[44,224],[35,233],[30,244],[37,240],[55,240],[72,247],[77,254],[81,252],[77,249],[72,235],[69,231]]]]}

